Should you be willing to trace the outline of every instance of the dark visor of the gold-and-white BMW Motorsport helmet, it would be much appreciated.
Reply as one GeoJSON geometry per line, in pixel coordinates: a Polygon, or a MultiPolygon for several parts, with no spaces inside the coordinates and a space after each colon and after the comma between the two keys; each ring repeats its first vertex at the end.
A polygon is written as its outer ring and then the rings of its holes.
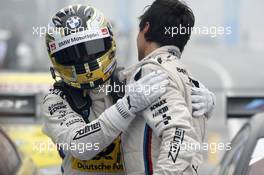
{"type": "Polygon", "coordinates": [[[55,61],[64,66],[84,64],[102,57],[112,47],[112,38],[102,38],[70,46],[53,54],[55,61]]]}

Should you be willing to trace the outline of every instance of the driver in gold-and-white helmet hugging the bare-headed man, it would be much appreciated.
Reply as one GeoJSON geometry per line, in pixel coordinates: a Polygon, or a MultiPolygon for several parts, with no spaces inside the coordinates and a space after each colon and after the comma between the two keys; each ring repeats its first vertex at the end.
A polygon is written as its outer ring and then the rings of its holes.
{"type": "MultiPolygon", "coordinates": [[[[43,131],[58,146],[63,159],[62,172],[124,174],[121,136],[125,139],[126,135],[122,133],[130,132],[128,127],[139,128],[130,134],[141,138],[142,126],[147,124],[139,114],[165,95],[168,75],[161,70],[139,78],[142,70],[138,69],[129,76],[131,81],[120,82],[119,78],[123,80],[126,71],[119,72],[116,68],[112,27],[92,6],[63,8],[52,18],[50,26],[53,30],[47,33],[46,44],[56,82],[44,98],[43,131]],[[114,84],[125,86],[127,90],[106,93],[114,84]],[[135,125],[138,123],[131,125],[137,120],[142,122],[139,126],[135,125]],[[80,145],[85,145],[85,149],[79,149],[80,145]]],[[[203,114],[213,109],[213,94],[206,88],[193,92],[193,116],[204,118],[203,114]]],[[[134,150],[127,141],[123,147],[134,150]]],[[[130,155],[135,166],[138,165],[136,160],[141,158],[138,156],[135,153],[133,159],[130,155]]]]}

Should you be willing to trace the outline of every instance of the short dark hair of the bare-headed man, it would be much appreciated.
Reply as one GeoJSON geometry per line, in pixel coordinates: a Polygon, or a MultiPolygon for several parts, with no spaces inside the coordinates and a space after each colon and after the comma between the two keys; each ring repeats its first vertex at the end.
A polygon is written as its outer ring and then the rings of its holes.
{"type": "Polygon", "coordinates": [[[146,23],[150,24],[149,30],[145,33],[145,39],[156,42],[160,46],[174,45],[182,52],[191,36],[191,29],[195,23],[192,10],[179,0],[155,0],[148,7],[145,13],[140,16],[140,31],[144,29],[146,23]],[[167,35],[168,28],[185,28],[184,33],[178,32],[172,37],[167,35]]]}

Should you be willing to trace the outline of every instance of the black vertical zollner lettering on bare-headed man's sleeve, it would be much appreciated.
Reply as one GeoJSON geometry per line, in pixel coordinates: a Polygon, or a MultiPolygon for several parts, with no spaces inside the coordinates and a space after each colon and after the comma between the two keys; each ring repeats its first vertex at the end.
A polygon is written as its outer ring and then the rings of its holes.
{"type": "Polygon", "coordinates": [[[180,128],[176,128],[173,140],[170,143],[170,151],[168,154],[168,158],[171,158],[173,163],[175,163],[177,160],[183,139],[184,139],[184,130],[180,128]]]}

